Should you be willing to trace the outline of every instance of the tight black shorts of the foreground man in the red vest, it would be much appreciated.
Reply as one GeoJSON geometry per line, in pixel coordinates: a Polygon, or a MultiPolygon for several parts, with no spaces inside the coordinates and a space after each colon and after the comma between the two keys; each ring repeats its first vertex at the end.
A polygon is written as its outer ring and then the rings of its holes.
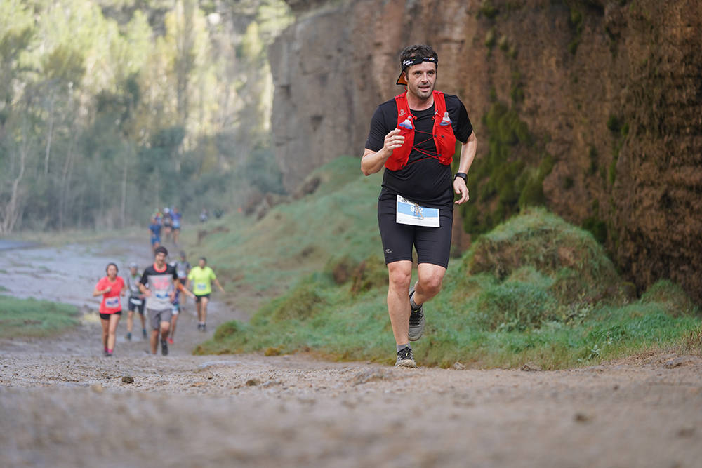
{"type": "Polygon", "coordinates": [[[449,267],[453,210],[439,210],[439,227],[403,225],[396,221],[394,199],[378,201],[378,229],[383,242],[385,265],[399,260],[412,261],[412,247],[418,263],[449,267]]]}

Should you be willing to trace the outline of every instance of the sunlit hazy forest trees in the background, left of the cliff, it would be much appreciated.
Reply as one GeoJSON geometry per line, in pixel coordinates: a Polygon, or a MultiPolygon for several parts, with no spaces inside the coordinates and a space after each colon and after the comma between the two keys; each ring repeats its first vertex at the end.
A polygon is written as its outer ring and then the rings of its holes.
{"type": "Polygon", "coordinates": [[[281,191],[267,45],[289,8],[206,3],[0,4],[0,233],[143,225],[154,205],[188,218],[281,191]]]}

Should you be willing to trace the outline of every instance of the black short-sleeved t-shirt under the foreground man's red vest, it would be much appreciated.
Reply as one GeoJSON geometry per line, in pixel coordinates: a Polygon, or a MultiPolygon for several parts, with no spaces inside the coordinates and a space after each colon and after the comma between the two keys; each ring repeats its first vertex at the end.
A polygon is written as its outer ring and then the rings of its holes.
{"type": "MultiPolygon", "coordinates": [[[[453,135],[456,135],[457,140],[465,143],[473,131],[468,112],[458,96],[444,94],[444,98],[453,135]]],[[[414,145],[407,165],[399,171],[390,171],[385,168],[383,188],[380,190],[378,200],[395,199],[399,194],[428,208],[451,209],[453,207],[451,166],[445,166],[439,162],[439,159],[425,154],[437,155],[436,144],[432,138],[434,106],[422,111],[413,109],[410,111],[416,119],[414,119],[414,145]],[[417,151],[416,148],[421,151],[417,151]]],[[[376,152],[383,149],[385,135],[394,128],[397,128],[397,102],[392,98],[379,105],[373,114],[366,148],[376,152]]]]}

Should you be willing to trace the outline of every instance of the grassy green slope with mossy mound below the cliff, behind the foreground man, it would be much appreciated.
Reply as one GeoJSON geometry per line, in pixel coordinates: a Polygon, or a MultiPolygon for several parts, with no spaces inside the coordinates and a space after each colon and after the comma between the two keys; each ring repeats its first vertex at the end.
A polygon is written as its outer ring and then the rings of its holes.
{"type": "MultiPolygon", "coordinates": [[[[218,268],[238,277],[242,302],[277,297],[259,300],[250,323],[220,326],[197,352],[305,349],[394,361],[376,225],[380,175],[359,175],[355,158],[318,174],[324,183],[312,196],[259,222],[224,220],[230,231],[208,238],[218,268]]],[[[679,346],[699,331],[698,310],[679,287],[662,281],[637,300],[588,232],[544,210],[512,218],[453,259],[426,309],[425,337],[413,345],[423,365],[564,368],[679,346]]]]}

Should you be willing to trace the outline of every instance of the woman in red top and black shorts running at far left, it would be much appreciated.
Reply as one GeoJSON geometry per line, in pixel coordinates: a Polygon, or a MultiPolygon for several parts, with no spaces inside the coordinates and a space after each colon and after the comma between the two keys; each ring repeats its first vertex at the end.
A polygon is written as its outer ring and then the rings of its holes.
{"type": "Polygon", "coordinates": [[[102,295],[100,302],[100,322],[102,323],[102,345],[105,347],[105,356],[112,356],[117,332],[117,324],[122,314],[120,295],[124,295],[127,286],[121,276],[117,276],[117,265],[108,263],[105,269],[107,276],[103,276],[93,290],[93,297],[102,295]]]}

